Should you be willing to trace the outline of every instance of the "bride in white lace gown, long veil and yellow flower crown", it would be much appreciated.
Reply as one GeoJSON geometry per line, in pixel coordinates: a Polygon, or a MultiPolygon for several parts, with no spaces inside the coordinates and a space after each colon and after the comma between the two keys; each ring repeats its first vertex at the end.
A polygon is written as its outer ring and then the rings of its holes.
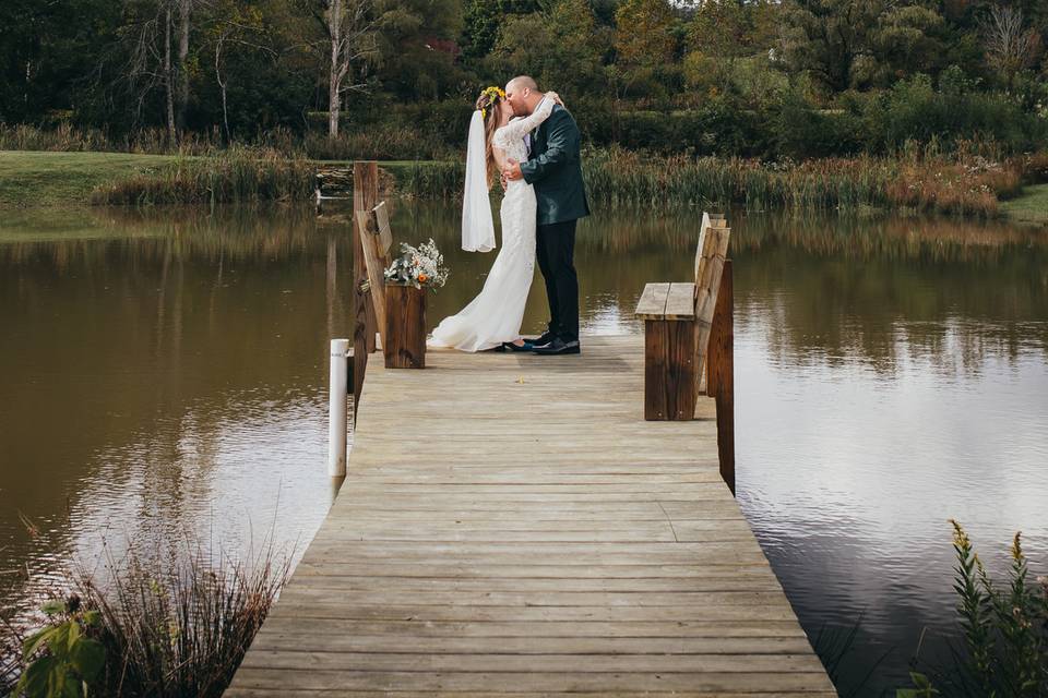
{"type": "MultiPolygon", "coordinates": [[[[468,251],[495,249],[495,224],[488,192],[495,177],[510,158],[524,161],[524,136],[545,121],[562,104],[557,93],[546,98],[534,113],[513,119],[505,93],[488,87],[477,98],[469,122],[466,155],[466,190],[462,202],[462,246],[468,251]]],[[[529,351],[521,338],[524,304],[535,275],[535,190],[521,180],[507,184],[500,209],[502,250],[480,293],[456,315],[441,321],[429,339],[431,347],[451,347],[461,351],[500,349],[529,351]]]]}

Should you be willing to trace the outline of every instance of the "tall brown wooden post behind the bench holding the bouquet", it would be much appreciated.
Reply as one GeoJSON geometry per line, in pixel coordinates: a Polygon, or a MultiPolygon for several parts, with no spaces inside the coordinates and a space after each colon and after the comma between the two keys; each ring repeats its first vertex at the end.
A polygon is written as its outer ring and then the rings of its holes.
{"type": "MultiPolygon", "coordinates": [[[[377,324],[374,309],[367,297],[368,269],[364,261],[365,231],[357,225],[356,212],[370,212],[379,203],[379,166],[373,161],[353,164],[353,416],[360,409],[368,354],[374,351],[377,324]]],[[[380,291],[381,292],[381,291],[380,291]]]]}

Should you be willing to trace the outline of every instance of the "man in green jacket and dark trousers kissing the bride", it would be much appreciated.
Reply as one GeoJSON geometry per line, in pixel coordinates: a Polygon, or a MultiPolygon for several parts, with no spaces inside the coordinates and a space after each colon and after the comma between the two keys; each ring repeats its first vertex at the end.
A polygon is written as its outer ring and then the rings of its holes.
{"type": "MultiPolygon", "coordinates": [[[[541,104],[545,95],[527,75],[505,85],[505,100],[513,115],[526,117],[541,104]]],[[[528,340],[535,353],[579,353],[579,277],[575,274],[575,224],[590,215],[586,190],[579,158],[579,125],[560,105],[531,136],[528,159],[510,158],[503,171],[507,179],[524,179],[535,186],[538,227],[535,254],[546,279],[549,299],[549,328],[528,340]]]]}

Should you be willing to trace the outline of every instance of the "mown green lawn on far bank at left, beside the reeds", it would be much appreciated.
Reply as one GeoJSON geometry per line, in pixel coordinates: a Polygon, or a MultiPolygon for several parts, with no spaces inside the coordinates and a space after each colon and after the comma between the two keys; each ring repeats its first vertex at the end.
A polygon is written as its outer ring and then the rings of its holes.
{"type": "Polygon", "coordinates": [[[171,155],[0,151],[0,207],[90,204],[96,186],[174,160],[171,155]]]}

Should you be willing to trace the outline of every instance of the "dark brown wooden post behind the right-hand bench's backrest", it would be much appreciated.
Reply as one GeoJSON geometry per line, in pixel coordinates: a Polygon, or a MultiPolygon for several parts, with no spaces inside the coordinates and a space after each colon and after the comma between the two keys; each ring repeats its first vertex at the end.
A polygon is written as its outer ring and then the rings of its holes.
{"type": "Polygon", "coordinates": [[[731,260],[724,261],[710,332],[706,394],[717,404],[717,454],[720,477],[735,494],[735,285],[731,260]]]}

